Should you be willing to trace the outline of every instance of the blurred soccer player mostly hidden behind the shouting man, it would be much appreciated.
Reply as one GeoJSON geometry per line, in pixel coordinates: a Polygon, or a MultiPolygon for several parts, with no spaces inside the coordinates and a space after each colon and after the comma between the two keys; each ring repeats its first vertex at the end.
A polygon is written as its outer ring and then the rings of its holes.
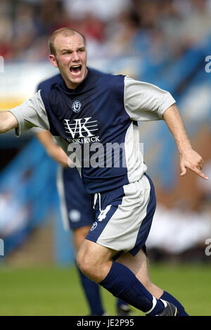
{"type": "MultiPolygon", "coordinates": [[[[56,75],[39,84],[38,90],[45,84],[61,81],[62,77],[56,75]]],[[[92,224],[90,196],[84,190],[82,179],[76,167],[68,167],[68,156],[58,146],[49,131],[35,129],[37,139],[46,148],[51,158],[60,164],[57,175],[57,188],[60,198],[60,210],[65,230],[72,230],[75,252],[86,238],[92,224]]],[[[70,162],[70,160],[69,160],[70,162]]],[[[101,302],[99,286],[91,281],[77,267],[84,294],[89,304],[90,315],[106,315],[101,302]]],[[[117,315],[128,316],[129,305],[120,298],[117,299],[117,315]]]]}

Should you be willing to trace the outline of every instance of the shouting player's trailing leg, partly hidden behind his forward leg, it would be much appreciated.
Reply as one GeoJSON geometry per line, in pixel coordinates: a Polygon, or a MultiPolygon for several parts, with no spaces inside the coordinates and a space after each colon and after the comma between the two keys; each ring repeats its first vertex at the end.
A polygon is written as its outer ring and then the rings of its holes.
{"type": "Polygon", "coordinates": [[[123,265],[131,269],[132,272],[134,272],[136,277],[139,279],[139,281],[141,281],[141,283],[153,296],[155,296],[155,298],[167,300],[170,303],[174,304],[177,307],[178,316],[188,316],[188,314],[184,310],[184,307],[181,305],[181,303],[179,303],[176,298],[174,298],[170,293],[167,293],[167,291],[163,291],[162,288],[159,288],[151,282],[151,279],[148,274],[146,253],[144,253],[142,249],[135,256],[132,256],[130,253],[122,253],[116,261],[122,263],[123,265]]]}

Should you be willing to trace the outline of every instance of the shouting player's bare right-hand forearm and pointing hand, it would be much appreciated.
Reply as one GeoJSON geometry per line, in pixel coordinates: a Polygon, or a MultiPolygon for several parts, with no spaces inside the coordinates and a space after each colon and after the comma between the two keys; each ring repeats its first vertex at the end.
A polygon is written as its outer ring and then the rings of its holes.
{"type": "Polygon", "coordinates": [[[163,118],[169,127],[174,140],[177,144],[177,148],[180,153],[180,167],[181,167],[181,176],[186,174],[186,169],[195,172],[203,179],[208,179],[201,170],[203,169],[203,158],[196,153],[191,147],[191,143],[188,139],[184,123],[181,120],[179,110],[177,106],[173,104],[168,108],[163,114],[163,118]]]}

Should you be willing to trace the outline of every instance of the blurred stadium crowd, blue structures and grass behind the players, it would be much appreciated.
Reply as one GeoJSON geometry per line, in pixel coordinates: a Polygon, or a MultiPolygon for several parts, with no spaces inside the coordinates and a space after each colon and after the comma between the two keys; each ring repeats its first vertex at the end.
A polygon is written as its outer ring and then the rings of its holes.
{"type": "MultiPolygon", "coordinates": [[[[1,0],[0,110],[25,101],[57,72],[46,61],[49,34],[75,27],[87,39],[90,67],[173,94],[210,177],[210,15],[210,0],[1,0]]],[[[183,295],[193,315],[211,315],[210,181],[191,172],[179,177],[177,148],[163,122],[139,129],[158,198],[148,238],[152,277],[183,295]]],[[[72,234],[61,225],[56,163],[33,132],[18,139],[8,132],[0,148],[0,315],[88,314],[72,234]]],[[[113,298],[103,295],[113,313],[113,298]]]]}

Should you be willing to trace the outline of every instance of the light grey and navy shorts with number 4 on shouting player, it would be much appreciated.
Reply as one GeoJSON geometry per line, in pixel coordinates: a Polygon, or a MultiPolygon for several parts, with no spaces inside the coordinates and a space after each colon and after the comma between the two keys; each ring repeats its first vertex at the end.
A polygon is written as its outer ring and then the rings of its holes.
{"type": "Polygon", "coordinates": [[[156,208],[155,189],[146,174],[137,181],[92,196],[94,223],[87,239],[136,255],[145,248],[156,208]]]}

